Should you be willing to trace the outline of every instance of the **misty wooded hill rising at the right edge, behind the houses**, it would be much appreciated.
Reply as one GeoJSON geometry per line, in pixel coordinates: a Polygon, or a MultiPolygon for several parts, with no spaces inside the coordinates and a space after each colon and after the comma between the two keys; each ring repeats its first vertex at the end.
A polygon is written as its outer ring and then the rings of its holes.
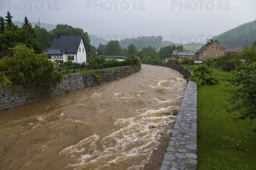
{"type": "Polygon", "coordinates": [[[223,48],[252,45],[256,40],[256,20],[214,36],[213,39],[219,40],[219,44],[223,48]]]}

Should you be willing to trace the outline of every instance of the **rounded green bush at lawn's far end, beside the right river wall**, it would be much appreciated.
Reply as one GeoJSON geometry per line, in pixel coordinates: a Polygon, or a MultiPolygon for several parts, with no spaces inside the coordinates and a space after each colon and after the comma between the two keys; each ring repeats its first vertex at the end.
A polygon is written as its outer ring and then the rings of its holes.
{"type": "Polygon", "coordinates": [[[189,77],[189,80],[195,81],[199,86],[216,84],[218,82],[218,79],[213,74],[212,69],[204,64],[193,70],[193,75],[189,77]]]}

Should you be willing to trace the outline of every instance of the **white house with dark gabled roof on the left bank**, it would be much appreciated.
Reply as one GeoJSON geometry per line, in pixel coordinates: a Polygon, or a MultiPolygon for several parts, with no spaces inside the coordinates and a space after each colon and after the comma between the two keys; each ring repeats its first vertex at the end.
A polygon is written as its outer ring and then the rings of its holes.
{"type": "Polygon", "coordinates": [[[70,56],[73,62],[86,62],[86,48],[82,36],[56,35],[52,46],[46,53],[51,60],[60,59],[67,62],[70,56]]]}

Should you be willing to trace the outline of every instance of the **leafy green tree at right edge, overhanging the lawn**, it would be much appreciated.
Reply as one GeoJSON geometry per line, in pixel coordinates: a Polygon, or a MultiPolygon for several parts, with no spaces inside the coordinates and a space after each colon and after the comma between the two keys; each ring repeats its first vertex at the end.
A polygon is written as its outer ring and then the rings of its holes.
{"type": "MultiPolygon", "coordinates": [[[[256,118],[256,62],[244,62],[233,71],[235,76],[228,79],[231,89],[228,90],[233,96],[227,101],[226,111],[232,113],[239,111],[237,120],[244,120],[247,117],[252,122],[256,118]]],[[[250,124],[251,124],[250,122],[250,124]]],[[[256,127],[253,127],[256,133],[256,127]]]]}

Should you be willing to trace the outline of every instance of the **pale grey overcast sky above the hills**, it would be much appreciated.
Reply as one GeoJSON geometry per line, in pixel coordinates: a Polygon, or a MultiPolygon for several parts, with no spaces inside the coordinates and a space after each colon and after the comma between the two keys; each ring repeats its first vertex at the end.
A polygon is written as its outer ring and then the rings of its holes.
{"type": "Polygon", "coordinates": [[[97,37],[157,36],[197,42],[256,20],[256,0],[0,0],[0,15],[13,21],[63,23],[97,37]],[[186,37],[187,36],[187,37],[186,37]],[[189,38],[190,37],[190,38],[189,38]]]}

